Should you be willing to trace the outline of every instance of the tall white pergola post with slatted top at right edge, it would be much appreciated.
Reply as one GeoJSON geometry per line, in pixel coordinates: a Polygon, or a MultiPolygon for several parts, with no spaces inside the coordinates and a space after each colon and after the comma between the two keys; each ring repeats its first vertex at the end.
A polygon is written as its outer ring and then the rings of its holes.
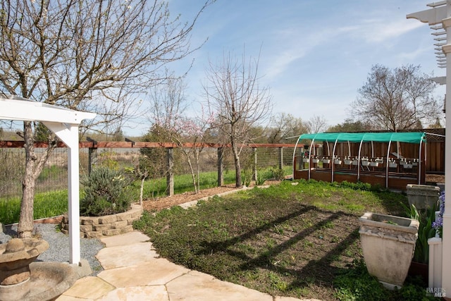
{"type": "Polygon", "coordinates": [[[443,250],[442,250],[442,283],[443,292],[451,292],[451,257],[447,256],[451,250],[451,0],[439,1],[428,4],[432,8],[426,11],[419,11],[407,15],[407,18],[415,18],[421,22],[434,25],[433,30],[445,30],[445,32],[435,32],[435,35],[446,35],[445,44],[436,45],[438,66],[446,66],[446,96],[445,96],[445,213],[443,214],[443,250]]]}

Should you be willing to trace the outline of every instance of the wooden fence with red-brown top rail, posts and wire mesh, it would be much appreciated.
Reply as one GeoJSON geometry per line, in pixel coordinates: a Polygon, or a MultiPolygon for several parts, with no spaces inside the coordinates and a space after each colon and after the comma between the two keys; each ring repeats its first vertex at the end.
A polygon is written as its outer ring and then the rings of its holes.
{"type": "MultiPolygon", "coordinates": [[[[0,157],[0,164],[8,164],[8,161],[13,161],[13,165],[18,170],[23,169],[23,163],[25,156],[23,154],[23,141],[0,141],[1,149],[11,149],[8,155],[0,157]],[[14,152],[14,158],[11,159],[12,149],[18,149],[20,152],[14,152]],[[3,162],[3,163],[2,163],[3,162]]],[[[35,148],[37,152],[42,152],[47,147],[46,143],[37,142],[35,148]]],[[[113,156],[113,161],[121,161],[123,166],[133,166],[133,162],[136,163],[137,158],[140,156],[142,149],[165,149],[164,158],[160,158],[161,164],[164,164],[164,175],[166,175],[166,194],[173,195],[174,193],[174,171],[178,174],[187,173],[186,168],[183,169],[180,165],[186,165],[183,161],[183,156],[178,156],[179,160],[174,161],[174,152],[179,148],[173,143],[159,143],[159,142],[80,142],[80,173],[89,173],[92,166],[99,164],[103,158],[103,155],[108,153],[109,156],[113,156]],[[116,154],[113,154],[117,152],[116,154]],[[113,154],[113,155],[111,155],[113,154]]],[[[217,171],[216,185],[223,185],[223,175],[225,166],[227,170],[233,170],[233,160],[230,159],[230,146],[218,145],[218,144],[197,144],[186,143],[184,148],[198,148],[203,149],[202,154],[204,159],[201,162],[202,171],[217,171]],[[226,154],[227,155],[226,155],[226,154]]],[[[241,156],[242,161],[250,162],[252,166],[252,178],[257,178],[259,168],[266,168],[272,166],[275,168],[283,168],[283,166],[291,166],[292,154],[295,145],[294,144],[249,144],[242,145],[244,147],[243,154],[241,156]]],[[[54,165],[66,166],[66,145],[59,142],[57,149],[57,159],[51,159],[48,164],[48,168],[54,165]],[[56,163],[57,162],[57,163],[56,163]]],[[[11,164],[11,163],[9,163],[11,164]]],[[[244,165],[244,164],[243,164],[244,165]]],[[[249,164],[247,165],[249,166],[249,164]]],[[[18,188],[20,183],[20,174],[11,176],[11,168],[0,168],[0,192],[1,195],[17,195],[17,193],[11,193],[7,191],[8,186],[14,186],[18,188]],[[3,172],[4,171],[4,172],[3,172]],[[11,185],[11,181],[15,181],[15,185],[11,185]]],[[[66,176],[61,173],[61,177],[58,180],[65,180],[66,176]]],[[[44,183],[42,183],[44,185],[44,183]]],[[[63,186],[63,183],[58,183],[59,187],[63,186]]],[[[54,184],[52,184],[54,186],[54,184]]],[[[46,191],[46,188],[42,188],[41,191],[46,191]]]]}

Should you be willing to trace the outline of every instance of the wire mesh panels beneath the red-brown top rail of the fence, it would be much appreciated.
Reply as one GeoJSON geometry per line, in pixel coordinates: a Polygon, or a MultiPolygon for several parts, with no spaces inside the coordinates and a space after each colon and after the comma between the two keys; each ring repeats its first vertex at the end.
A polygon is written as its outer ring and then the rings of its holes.
{"type": "MultiPolygon", "coordinates": [[[[197,160],[194,150],[199,156],[199,172],[209,173],[210,176],[200,178],[202,187],[218,185],[218,148],[204,147],[202,149],[173,149],[173,174],[175,182],[177,176],[190,175],[190,166],[186,154],[190,156],[194,171],[197,171],[197,160]],[[185,154],[183,152],[185,150],[185,154]]],[[[292,166],[292,147],[273,145],[268,147],[244,147],[240,154],[243,172],[263,171],[266,168],[283,167],[285,173],[290,173],[292,166]]],[[[37,156],[45,151],[35,148],[37,156]]],[[[147,164],[152,165],[148,180],[162,179],[165,182],[167,173],[166,148],[146,147],[101,147],[80,148],[80,178],[89,174],[90,168],[109,166],[123,170],[137,167],[140,157],[147,156],[147,164]]],[[[223,173],[235,177],[235,165],[230,147],[223,147],[223,173]]],[[[23,147],[0,148],[0,198],[20,198],[22,195],[22,181],[25,173],[25,149],[23,147]]],[[[230,177],[229,177],[230,178],[230,177]]],[[[178,183],[175,183],[178,185],[178,183]]],[[[190,185],[188,182],[185,185],[190,185]]],[[[51,153],[42,173],[36,183],[36,192],[51,192],[68,188],[68,149],[57,147],[51,153]]]]}

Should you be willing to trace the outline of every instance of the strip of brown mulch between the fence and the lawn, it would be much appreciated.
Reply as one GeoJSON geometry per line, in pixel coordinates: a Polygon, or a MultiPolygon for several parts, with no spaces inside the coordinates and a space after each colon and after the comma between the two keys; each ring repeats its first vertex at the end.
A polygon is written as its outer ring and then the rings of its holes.
{"type": "MultiPolygon", "coordinates": [[[[269,181],[267,180],[264,185],[276,185],[280,181],[269,181]]],[[[249,187],[253,187],[252,183],[249,187]]],[[[172,195],[171,197],[157,197],[155,199],[146,199],[142,202],[142,208],[147,211],[159,211],[161,209],[171,208],[176,205],[184,204],[187,202],[192,202],[197,199],[202,199],[203,197],[213,197],[214,195],[219,195],[223,192],[228,192],[232,190],[239,190],[235,185],[223,185],[221,187],[208,188],[200,190],[198,193],[185,192],[180,195],[172,195]]]]}

